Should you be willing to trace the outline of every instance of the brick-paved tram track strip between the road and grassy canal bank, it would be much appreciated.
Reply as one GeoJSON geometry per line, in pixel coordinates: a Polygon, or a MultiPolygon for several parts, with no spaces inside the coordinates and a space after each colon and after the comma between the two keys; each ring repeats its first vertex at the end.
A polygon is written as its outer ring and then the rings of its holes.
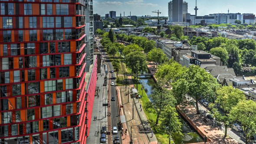
{"type": "MultiPolygon", "coordinates": [[[[131,76],[128,76],[128,79],[131,79],[131,76]]],[[[158,141],[155,135],[153,134],[153,137],[151,137],[152,129],[143,109],[140,108],[138,99],[131,98],[131,95],[129,94],[128,102],[128,89],[129,92],[131,92],[131,87],[133,87],[133,85],[128,86],[127,90],[125,90],[125,86],[118,87],[118,97],[121,97],[121,105],[123,105],[123,108],[121,108],[121,115],[125,115],[126,118],[126,123],[123,124],[124,132],[125,129],[128,130],[127,135],[125,136],[125,134],[123,134],[121,137],[122,144],[129,144],[131,138],[133,144],[157,144],[158,141]],[[133,102],[135,102],[135,106],[133,105],[133,102]],[[133,110],[134,119],[132,119],[133,110]]]]}

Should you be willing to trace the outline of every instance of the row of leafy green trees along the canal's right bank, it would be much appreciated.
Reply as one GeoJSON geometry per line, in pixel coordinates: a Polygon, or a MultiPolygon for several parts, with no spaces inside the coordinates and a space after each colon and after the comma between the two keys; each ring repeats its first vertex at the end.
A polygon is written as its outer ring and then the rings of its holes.
{"type": "MultiPolygon", "coordinates": [[[[158,85],[172,87],[172,90],[169,91],[168,96],[159,90],[151,95],[154,109],[161,111],[162,104],[168,105],[166,102],[181,108],[196,105],[197,114],[200,114],[198,100],[205,98],[212,102],[209,108],[213,117],[225,128],[224,137],[226,137],[227,128],[231,128],[235,122],[242,124],[246,144],[256,134],[256,103],[246,100],[239,89],[231,86],[221,87],[212,75],[199,66],[190,65],[189,68],[185,68],[171,59],[158,67],[156,78],[158,85]]],[[[161,118],[164,111],[157,114],[157,118],[161,118]]]]}

